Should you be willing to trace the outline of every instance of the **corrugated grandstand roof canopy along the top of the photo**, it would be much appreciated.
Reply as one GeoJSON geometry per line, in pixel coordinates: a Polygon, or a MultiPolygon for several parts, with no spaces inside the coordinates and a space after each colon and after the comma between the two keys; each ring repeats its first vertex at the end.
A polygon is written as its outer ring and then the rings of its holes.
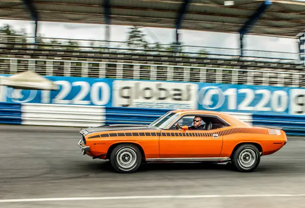
{"type": "MultiPolygon", "coordinates": [[[[0,18],[33,20],[26,2],[32,2],[38,21],[175,28],[181,5],[187,0],[1,0],[0,18]],[[109,7],[104,5],[109,3],[109,7]],[[104,6],[106,9],[104,9],[104,6]],[[107,9],[108,8],[108,9],[107,9]]],[[[180,29],[238,33],[263,0],[192,0],[180,29]],[[233,5],[230,3],[233,2],[233,5]],[[229,4],[228,6],[225,6],[229,4]]],[[[33,10],[34,11],[34,10],[33,10]]],[[[32,13],[35,17],[35,12],[32,13]]],[[[273,0],[248,34],[297,36],[305,29],[305,2],[273,0]]]]}

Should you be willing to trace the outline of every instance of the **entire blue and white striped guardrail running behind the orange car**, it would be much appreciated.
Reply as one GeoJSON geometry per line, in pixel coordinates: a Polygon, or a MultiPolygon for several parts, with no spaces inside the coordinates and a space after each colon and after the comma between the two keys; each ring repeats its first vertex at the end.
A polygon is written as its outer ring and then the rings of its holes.
{"type": "MultiPolygon", "coordinates": [[[[1,124],[62,127],[149,124],[169,110],[32,103],[2,103],[0,105],[1,124]]],[[[305,123],[303,116],[300,115],[284,115],[279,118],[269,114],[227,113],[253,126],[282,127],[287,135],[305,136],[305,123]]]]}

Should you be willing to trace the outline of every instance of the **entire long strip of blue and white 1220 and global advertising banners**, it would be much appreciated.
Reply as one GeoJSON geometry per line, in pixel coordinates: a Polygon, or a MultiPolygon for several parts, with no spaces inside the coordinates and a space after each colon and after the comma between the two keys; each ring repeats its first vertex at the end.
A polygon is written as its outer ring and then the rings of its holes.
{"type": "Polygon", "coordinates": [[[304,88],[158,80],[45,77],[58,84],[59,90],[16,90],[0,86],[0,101],[305,115],[304,88]]]}

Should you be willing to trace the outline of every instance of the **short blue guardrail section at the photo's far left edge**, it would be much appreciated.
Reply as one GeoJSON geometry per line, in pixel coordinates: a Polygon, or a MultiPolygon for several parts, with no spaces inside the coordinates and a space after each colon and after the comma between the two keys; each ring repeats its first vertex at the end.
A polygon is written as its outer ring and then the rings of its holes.
{"type": "Polygon", "coordinates": [[[0,102],[0,123],[21,124],[21,104],[0,102]]]}

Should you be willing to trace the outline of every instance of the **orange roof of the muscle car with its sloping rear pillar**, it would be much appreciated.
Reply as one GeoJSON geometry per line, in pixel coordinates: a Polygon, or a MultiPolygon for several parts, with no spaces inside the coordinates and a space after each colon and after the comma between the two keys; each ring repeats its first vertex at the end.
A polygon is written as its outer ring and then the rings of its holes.
{"type": "Polygon", "coordinates": [[[209,114],[217,115],[229,123],[231,126],[240,126],[240,127],[251,127],[249,124],[239,120],[236,116],[231,115],[225,112],[212,111],[212,110],[171,110],[171,112],[179,113],[181,115],[186,114],[209,114]]]}

